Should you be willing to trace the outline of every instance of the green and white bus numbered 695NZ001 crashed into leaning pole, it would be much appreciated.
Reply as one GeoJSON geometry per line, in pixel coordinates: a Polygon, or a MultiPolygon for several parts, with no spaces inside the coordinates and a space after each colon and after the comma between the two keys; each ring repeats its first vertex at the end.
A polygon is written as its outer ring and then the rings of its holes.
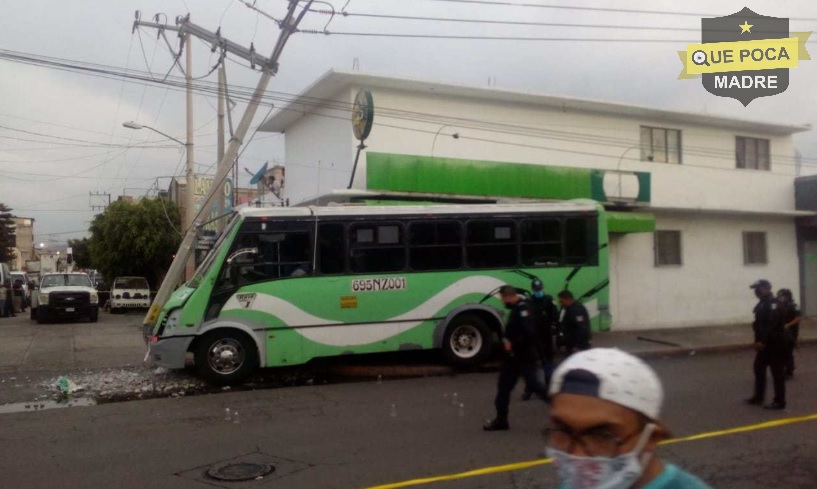
{"type": "Polygon", "coordinates": [[[161,308],[149,357],[242,381],[256,368],[339,355],[442,349],[490,355],[492,294],[539,277],[569,287],[594,329],[608,304],[607,228],[594,202],[247,208],[161,308]]]}

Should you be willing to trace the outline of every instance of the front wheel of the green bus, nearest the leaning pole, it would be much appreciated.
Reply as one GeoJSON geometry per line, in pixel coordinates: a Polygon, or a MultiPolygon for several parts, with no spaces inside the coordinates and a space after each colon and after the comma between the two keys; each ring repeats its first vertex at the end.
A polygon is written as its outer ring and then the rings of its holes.
{"type": "Polygon", "coordinates": [[[198,374],[210,384],[237,385],[258,367],[258,349],[246,333],[221,329],[196,340],[193,359],[198,374]]]}

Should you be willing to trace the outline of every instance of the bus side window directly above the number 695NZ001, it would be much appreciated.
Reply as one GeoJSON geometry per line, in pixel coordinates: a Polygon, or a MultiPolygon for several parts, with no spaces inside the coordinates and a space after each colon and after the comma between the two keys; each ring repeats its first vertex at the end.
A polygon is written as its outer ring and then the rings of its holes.
{"type": "Polygon", "coordinates": [[[399,272],[406,267],[403,226],[398,223],[350,226],[349,248],[353,273],[399,272]]]}

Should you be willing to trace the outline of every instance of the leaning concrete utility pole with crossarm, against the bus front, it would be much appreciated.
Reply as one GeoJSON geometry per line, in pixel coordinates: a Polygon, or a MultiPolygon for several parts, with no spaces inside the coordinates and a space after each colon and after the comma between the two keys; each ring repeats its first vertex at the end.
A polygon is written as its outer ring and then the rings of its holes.
{"type": "MultiPolygon", "coordinates": [[[[257,63],[258,60],[262,60],[263,62],[259,64],[263,67],[263,73],[261,75],[261,79],[258,80],[258,86],[255,88],[255,91],[252,94],[252,98],[247,105],[247,109],[244,111],[244,115],[241,117],[241,121],[236,128],[235,134],[230,139],[230,144],[227,146],[224,156],[221,158],[221,161],[218,164],[218,171],[216,172],[216,177],[213,179],[213,185],[210,186],[210,190],[207,192],[207,197],[204,199],[204,206],[202,206],[202,208],[199,209],[198,213],[196,214],[193,221],[193,226],[188,228],[187,233],[182,240],[182,244],[179,247],[179,250],[176,252],[176,257],[173,259],[173,263],[170,265],[170,269],[167,271],[164,281],[162,281],[162,286],[159,288],[156,298],[153,300],[153,304],[150,306],[150,310],[145,316],[143,329],[146,340],[151,335],[151,331],[156,325],[159,312],[161,312],[162,307],[164,306],[165,302],[167,302],[170,294],[173,292],[175,285],[179,283],[179,279],[184,271],[184,264],[187,262],[195,249],[196,224],[200,222],[201,218],[204,216],[205,209],[207,209],[207,206],[210,205],[210,202],[215,194],[220,191],[224,180],[230,173],[230,169],[232,168],[231,162],[235,161],[236,157],[238,156],[238,150],[243,144],[244,138],[249,131],[250,124],[258,111],[258,105],[261,103],[261,100],[264,97],[264,92],[267,89],[267,85],[269,84],[269,81],[273,75],[278,72],[278,60],[281,58],[281,53],[283,53],[284,46],[286,46],[290,36],[297,31],[298,25],[309,11],[313,2],[314,0],[306,0],[301,12],[296,15],[296,10],[298,9],[300,0],[289,1],[287,14],[279,23],[281,34],[278,36],[278,41],[275,43],[275,48],[273,49],[272,55],[269,57],[269,59],[263,59],[257,56],[254,49],[247,50],[240,48],[234,43],[221,39],[221,36],[218,33],[213,34],[201,29],[198,26],[191,24],[189,19],[177,19],[177,23],[179,25],[178,29],[176,30],[178,30],[181,34],[189,33],[205,40],[207,40],[209,37],[211,40],[218,41],[218,46],[220,46],[223,50],[249,57],[252,64],[257,63]]],[[[139,21],[137,20],[137,22],[139,21]]],[[[157,26],[160,28],[163,27],[161,25],[153,25],[153,27],[157,26]]]]}

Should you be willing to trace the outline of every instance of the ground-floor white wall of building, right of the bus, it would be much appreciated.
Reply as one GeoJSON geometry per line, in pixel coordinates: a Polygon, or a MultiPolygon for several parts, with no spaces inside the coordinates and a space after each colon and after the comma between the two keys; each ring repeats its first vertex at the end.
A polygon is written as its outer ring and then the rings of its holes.
{"type": "Polygon", "coordinates": [[[680,230],[683,264],[654,265],[653,234],[610,239],[610,303],[614,329],[749,323],[759,278],[775,290],[799,290],[793,219],[659,214],[659,230],[680,230]],[[765,231],[767,265],[743,264],[744,231],[765,231]]]}

